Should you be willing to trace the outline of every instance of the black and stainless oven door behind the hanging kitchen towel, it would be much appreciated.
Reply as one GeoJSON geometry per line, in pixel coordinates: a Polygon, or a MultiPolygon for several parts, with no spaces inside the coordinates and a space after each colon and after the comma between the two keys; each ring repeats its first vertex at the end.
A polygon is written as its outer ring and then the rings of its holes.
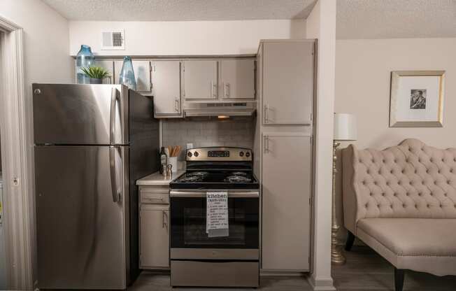
{"type": "Polygon", "coordinates": [[[206,234],[206,191],[171,190],[171,259],[256,260],[259,192],[228,192],[229,236],[206,234]]]}

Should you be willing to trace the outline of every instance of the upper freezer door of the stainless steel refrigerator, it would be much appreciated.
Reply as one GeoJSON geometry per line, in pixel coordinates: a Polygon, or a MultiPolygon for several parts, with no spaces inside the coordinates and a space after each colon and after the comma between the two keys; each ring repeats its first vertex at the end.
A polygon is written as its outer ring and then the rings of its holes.
{"type": "Polygon", "coordinates": [[[127,87],[33,84],[33,92],[35,144],[128,143],[127,87]]]}

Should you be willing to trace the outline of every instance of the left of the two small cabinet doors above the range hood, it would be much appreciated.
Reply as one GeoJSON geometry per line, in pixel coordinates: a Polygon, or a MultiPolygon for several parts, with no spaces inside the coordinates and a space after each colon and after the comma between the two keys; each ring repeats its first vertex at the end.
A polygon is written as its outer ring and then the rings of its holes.
{"type": "Polygon", "coordinates": [[[218,96],[217,61],[184,62],[184,98],[215,99],[218,96]]]}

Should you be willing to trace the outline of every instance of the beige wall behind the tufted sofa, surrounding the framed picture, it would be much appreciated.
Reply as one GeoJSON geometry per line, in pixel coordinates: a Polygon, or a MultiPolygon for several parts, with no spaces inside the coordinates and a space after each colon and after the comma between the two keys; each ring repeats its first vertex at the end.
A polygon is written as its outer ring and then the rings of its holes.
{"type": "MultiPolygon", "coordinates": [[[[358,140],[352,143],[360,149],[382,150],[415,138],[437,148],[456,148],[455,52],[456,38],[337,41],[335,111],[356,115],[358,140]],[[389,127],[391,71],[399,70],[446,71],[443,127],[389,127]]],[[[338,217],[343,222],[341,174],[336,181],[338,217]]]]}

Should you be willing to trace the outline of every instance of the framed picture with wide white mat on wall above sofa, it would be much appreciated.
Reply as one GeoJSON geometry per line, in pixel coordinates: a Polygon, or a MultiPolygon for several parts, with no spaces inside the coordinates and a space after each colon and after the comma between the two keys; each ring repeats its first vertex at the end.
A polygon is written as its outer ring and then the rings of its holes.
{"type": "Polygon", "coordinates": [[[442,127],[445,71],[392,71],[390,127],[442,127]]]}

